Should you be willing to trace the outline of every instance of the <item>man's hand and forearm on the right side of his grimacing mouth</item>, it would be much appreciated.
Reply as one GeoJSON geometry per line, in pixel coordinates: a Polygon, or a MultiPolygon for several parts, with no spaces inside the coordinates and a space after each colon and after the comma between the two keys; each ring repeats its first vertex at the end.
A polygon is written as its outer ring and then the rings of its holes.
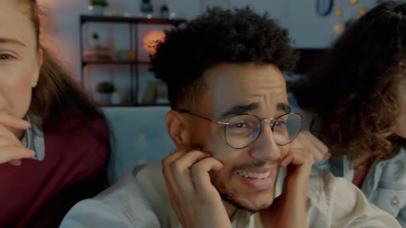
{"type": "Polygon", "coordinates": [[[303,149],[293,148],[282,159],[281,167],[286,167],[284,189],[281,196],[261,212],[264,227],[307,227],[306,193],[313,163],[313,155],[303,149]]]}

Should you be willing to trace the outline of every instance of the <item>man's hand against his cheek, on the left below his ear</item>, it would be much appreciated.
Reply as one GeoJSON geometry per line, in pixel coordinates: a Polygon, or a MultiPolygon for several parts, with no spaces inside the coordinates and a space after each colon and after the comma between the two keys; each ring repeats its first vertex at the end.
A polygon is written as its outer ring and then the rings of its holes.
{"type": "Polygon", "coordinates": [[[227,228],[230,219],[209,171],[220,161],[199,150],[180,150],[162,160],[162,172],[175,210],[184,228],[227,228]]]}

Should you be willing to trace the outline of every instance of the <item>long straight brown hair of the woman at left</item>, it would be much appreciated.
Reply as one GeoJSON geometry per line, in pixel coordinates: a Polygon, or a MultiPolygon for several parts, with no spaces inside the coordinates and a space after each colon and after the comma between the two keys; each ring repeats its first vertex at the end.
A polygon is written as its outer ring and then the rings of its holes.
{"type": "MultiPolygon", "coordinates": [[[[32,21],[36,32],[37,49],[43,52],[43,65],[39,71],[38,83],[32,90],[32,101],[28,115],[35,115],[43,119],[42,128],[44,132],[59,130],[58,126],[65,124],[69,119],[80,120],[81,125],[87,126],[100,143],[110,148],[110,135],[100,132],[100,129],[92,124],[92,122],[98,121],[103,122],[107,127],[107,120],[103,113],[96,108],[89,96],[65,70],[61,60],[52,54],[41,40],[40,11],[36,1],[19,0],[19,3],[24,6],[24,13],[32,21]]],[[[78,125],[72,125],[72,128],[63,128],[64,132],[74,130],[76,126],[78,125]]],[[[107,174],[106,170],[105,173],[107,174]]],[[[108,184],[107,175],[105,183],[108,184]]]]}

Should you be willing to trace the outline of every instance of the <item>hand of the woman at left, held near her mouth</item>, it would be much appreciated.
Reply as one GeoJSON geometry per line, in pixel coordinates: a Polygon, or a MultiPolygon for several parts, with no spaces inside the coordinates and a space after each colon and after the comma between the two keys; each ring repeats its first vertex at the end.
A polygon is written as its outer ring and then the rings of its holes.
{"type": "Polygon", "coordinates": [[[34,157],[35,152],[29,150],[21,141],[9,130],[27,130],[30,128],[30,123],[23,119],[0,113],[0,164],[10,163],[13,166],[21,165],[21,159],[34,157]]]}

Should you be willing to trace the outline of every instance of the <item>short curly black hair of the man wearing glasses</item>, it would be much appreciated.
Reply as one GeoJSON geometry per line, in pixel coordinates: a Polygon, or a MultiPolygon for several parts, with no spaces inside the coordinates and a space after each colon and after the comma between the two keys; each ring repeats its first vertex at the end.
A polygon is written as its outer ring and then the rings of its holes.
{"type": "Polygon", "coordinates": [[[267,14],[255,14],[248,7],[208,10],[166,35],[151,56],[151,70],[167,83],[172,109],[190,104],[202,95],[203,74],[214,65],[273,64],[292,73],[298,58],[289,45],[288,32],[268,19],[267,14]]]}

